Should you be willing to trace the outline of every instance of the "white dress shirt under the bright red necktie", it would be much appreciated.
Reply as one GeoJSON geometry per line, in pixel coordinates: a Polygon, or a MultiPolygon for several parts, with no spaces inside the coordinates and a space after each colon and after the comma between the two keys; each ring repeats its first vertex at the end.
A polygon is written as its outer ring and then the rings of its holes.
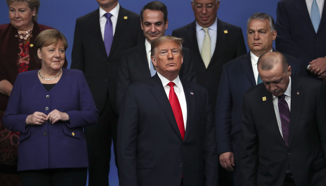
{"type": "MultiPolygon", "coordinates": [[[[162,85],[164,87],[166,96],[169,99],[170,86],[168,85],[168,83],[170,83],[170,80],[168,80],[167,78],[165,78],[164,76],[162,76],[158,72],[157,72],[157,75],[161,79],[161,82],[162,82],[162,85]]],[[[183,89],[183,86],[182,86],[182,83],[180,81],[179,75],[172,82],[175,84],[173,86],[173,88],[174,88],[174,92],[177,95],[180,106],[181,106],[182,116],[183,116],[183,119],[184,119],[184,125],[185,125],[185,130],[186,130],[186,126],[187,126],[187,101],[185,100],[185,91],[183,89]]]]}

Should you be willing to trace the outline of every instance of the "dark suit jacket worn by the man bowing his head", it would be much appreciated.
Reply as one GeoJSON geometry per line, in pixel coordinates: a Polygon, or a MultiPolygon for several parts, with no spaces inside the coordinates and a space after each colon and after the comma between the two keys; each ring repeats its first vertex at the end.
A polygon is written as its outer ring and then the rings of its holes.
{"type": "Polygon", "coordinates": [[[306,77],[291,77],[291,82],[288,147],[277,125],[272,94],[264,84],[244,95],[241,159],[244,186],[282,186],[288,169],[296,186],[326,185],[325,88],[306,77]]]}

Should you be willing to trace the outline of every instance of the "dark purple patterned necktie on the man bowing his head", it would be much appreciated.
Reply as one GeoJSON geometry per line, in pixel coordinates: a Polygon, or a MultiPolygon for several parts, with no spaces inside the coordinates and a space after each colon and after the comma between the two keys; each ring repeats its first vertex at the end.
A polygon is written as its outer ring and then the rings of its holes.
{"type": "Polygon", "coordinates": [[[285,101],[285,95],[278,97],[278,112],[280,113],[281,118],[281,125],[282,125],[282,133],[283,133],[283,139],[288,146],[289,141],[289,127],[290,127],[290,110],[289,105],[285,101]]]}

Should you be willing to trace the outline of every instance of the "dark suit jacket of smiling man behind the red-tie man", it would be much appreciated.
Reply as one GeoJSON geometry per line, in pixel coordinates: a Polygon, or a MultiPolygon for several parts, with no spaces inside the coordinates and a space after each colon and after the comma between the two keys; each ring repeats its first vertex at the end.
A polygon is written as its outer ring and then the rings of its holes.
{"type": "MultiPolygon", "coordinates": [[[[187,48],[182,48],[182,50],[184,61],[179,75],[185,80],[196,82],[191,52],[187,48]]],[[[119,108],[128,85],[151,77],[144,44],[123,52],[118,75],[117,105],[119,108]]]]}

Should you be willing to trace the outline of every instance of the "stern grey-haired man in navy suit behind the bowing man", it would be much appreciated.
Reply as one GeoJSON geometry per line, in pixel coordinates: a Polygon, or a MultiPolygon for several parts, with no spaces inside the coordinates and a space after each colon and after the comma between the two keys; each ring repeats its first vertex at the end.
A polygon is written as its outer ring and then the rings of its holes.
{"type": "MultiPolygon", "coordinates": [[[[215,125],[220,164],[232,171],[233,183],[241,186],[241,113],[244,92],[261,83],[257,61],[260,55],[273,51],[276,38],[274,19],[265,13],[253,14],[247,22],[250,52],[223,66],[217,94],[215,125]]],[[[298,59],[286,56],[292,75],[305,75],[298,59]]]]}

